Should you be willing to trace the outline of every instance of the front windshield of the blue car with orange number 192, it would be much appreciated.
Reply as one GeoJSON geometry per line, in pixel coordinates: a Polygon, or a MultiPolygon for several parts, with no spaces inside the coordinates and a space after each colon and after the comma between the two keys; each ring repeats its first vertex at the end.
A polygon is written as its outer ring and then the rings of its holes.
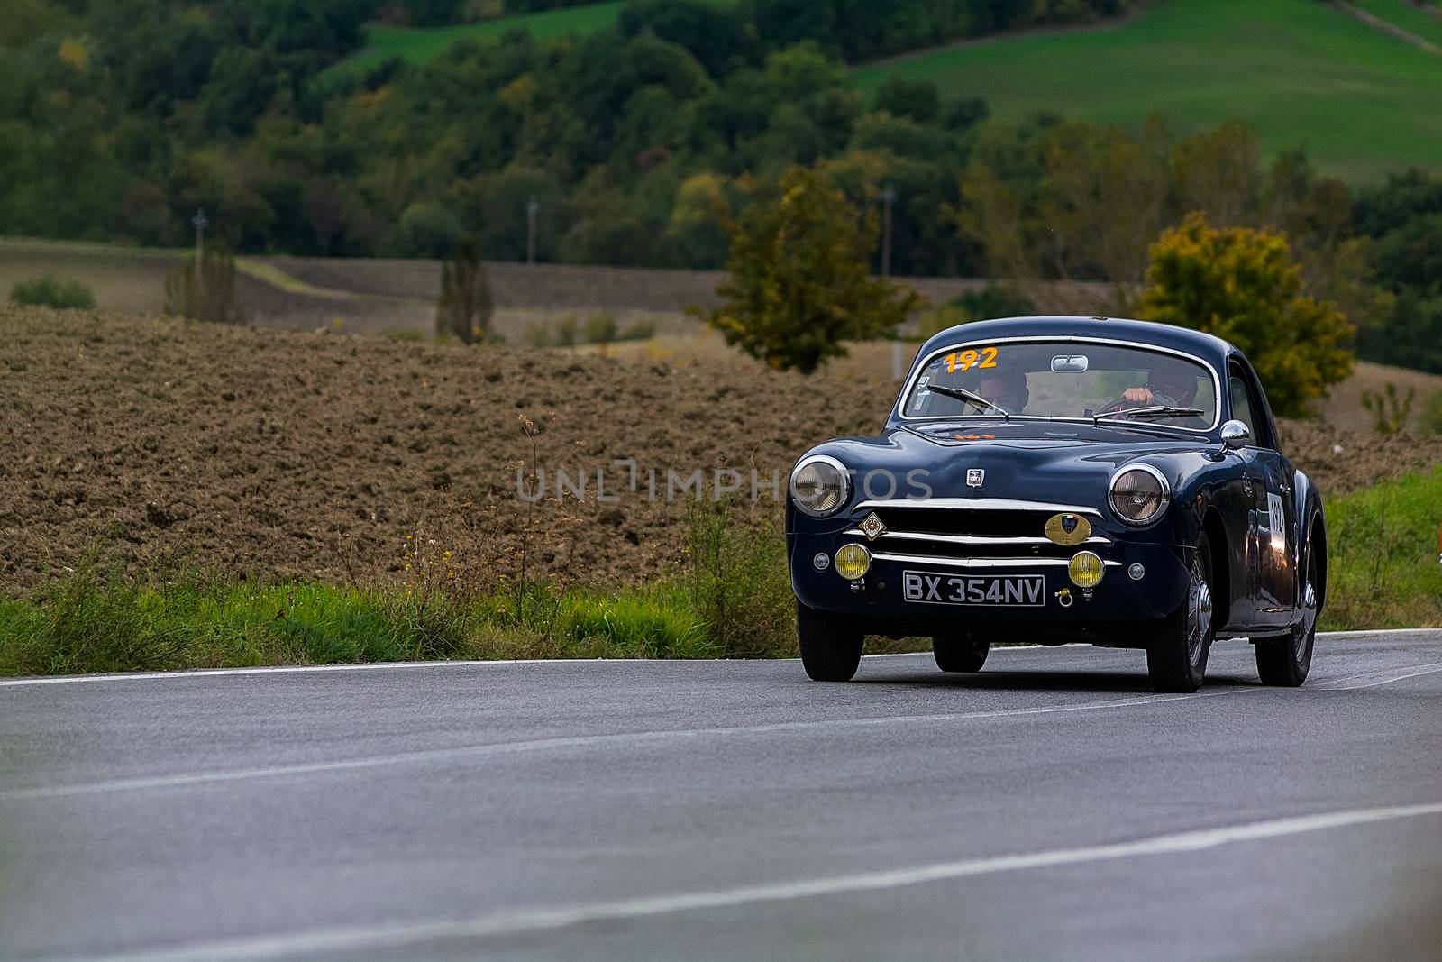
{"type": "Polygon", "coordinates": [[[1217,420],[1217,385],[1201,362],[1145,346],[994,340],[930,355],[901,407],[906,418],[1004,412],[1207,430],[1217,420]]]}

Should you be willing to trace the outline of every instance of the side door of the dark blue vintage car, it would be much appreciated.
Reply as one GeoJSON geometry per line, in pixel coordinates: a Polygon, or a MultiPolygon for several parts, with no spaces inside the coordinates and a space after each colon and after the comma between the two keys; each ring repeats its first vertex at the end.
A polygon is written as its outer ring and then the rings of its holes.
{"type": "Polygon", "coordinates": [[[1263,626],[1286,625],[1295,603],[1296,573],[1292,558],[1296,509],[1292,502],[1292,463],[1278,450],[1276,428],[1262,402],[1256,376],[1240,363],[1227,369],[1231,417],[1252,434],[1242,449],[1243,503],[1247,505],[1247,570],[1253,620],[1263,626]]]}

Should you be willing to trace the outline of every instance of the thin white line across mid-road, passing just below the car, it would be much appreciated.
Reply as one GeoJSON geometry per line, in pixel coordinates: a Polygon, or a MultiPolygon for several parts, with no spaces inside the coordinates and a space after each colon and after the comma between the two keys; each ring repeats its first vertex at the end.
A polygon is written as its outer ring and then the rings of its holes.
{"type": "Polygon", "coordinates": [[[1106,701],[1083,701],[1069,705],[1038,705],[1032,708],[1001,708],[996,711],[966,711],[936,715],[878,715],[874,718],[832,718],[818,721],[779,721],[766,725],[727,725],[718,728],[675,728],[656,731],[623,731],[604,736],[568,736],[554,738],[529,738],[525,741],[496,741],[487,744],[460,746],[454,749],[423,749],[420,751],[401,751],[395,754],[372,756],[368,759],[349,759],[343,762],[314,762],[309,764],[286,764],[264,769],[238,769],[232,772],[196,772],[192,775],[169,775],[150,779],[121,779],[114,782],[88,782],[78,785],[53,785],[29,789],[12,789],[0,792],[0,802],[36,800],[69,798],[76,795],[102,795],[107,792],[136,792],[144,789],[172,789],[192,785],[212,785],[218,782],[242,782],[247,779],[273,779],[290,775],[314,775],[322,772],[350,772],[358,769],[376,769],[389,764],[407,764],[415,762],[437,762],[446,759],[476,759],[492,756],[521,754],[526,751],[548,751],[561,749],[590,749],[619,744],[663,743],[685,738],[707,737],[737,737],[756,734],[774,734],[787,731],[833,731],[839,728],[880,727],[897,723],[939,723],[939,721],[979,721],[986,718],[1011,718],[1018,715],[1047,715],[1067,711],[1097,711],[1105,708],[1133,708],[1141,705],[1155,705],[1168,701],[1193,701],[1197,698],[1217,698],[1220,695],[1236,695],[1247,691],[1262,691],[1260,688],[1229,688],[1226,691],[1207,691],[1193,695],[1145,695],[1138,698],[1109,698],[1106,701]]]}

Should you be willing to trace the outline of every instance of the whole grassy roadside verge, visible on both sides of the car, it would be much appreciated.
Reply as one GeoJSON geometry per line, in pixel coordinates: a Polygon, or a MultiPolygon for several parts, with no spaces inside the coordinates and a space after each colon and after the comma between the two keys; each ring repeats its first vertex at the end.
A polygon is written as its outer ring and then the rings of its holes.
{"type": "MultiPolygon", "coordinates": [[[[1325,629],[1442,626],[1442,467],[1328,503],[1325,629]]],[[[686,565],[645,588],[238,584],[94,567],[0,600],[0,675],[496,658],[790,658],[774,519],[698,508],[686,565]]],[[[874,645],[868,650],[903,650],[874,645]]],[[[911,646],[914,649],[914,646],[911,646]]]]}

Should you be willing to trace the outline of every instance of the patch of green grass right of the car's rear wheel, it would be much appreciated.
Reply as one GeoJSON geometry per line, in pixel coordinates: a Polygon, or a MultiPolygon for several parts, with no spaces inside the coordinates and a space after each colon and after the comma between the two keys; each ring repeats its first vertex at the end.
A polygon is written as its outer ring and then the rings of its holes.
{"type": "Polygon", "coordinates": [[[1442,467],[1327,503],[1324,627],[1442,626],[1442,467]]]}

